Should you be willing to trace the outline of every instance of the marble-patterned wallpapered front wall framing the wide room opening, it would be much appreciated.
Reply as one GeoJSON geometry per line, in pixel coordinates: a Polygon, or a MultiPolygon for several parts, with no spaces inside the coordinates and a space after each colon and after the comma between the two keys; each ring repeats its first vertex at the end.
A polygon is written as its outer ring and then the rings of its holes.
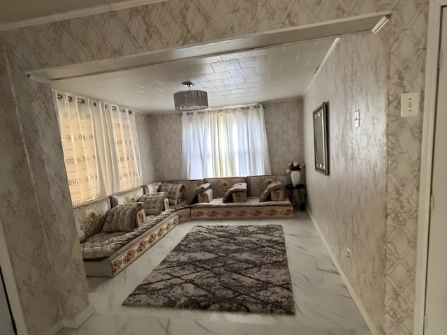
{"type": "Polygon", "coordinates": [[[68,188],[63,186],[61,147],[55,141],[51,145],[56,149],[43,149],[48,138],[55,138],[57,132],[54,107],[48,103],[50,85],[30,82],[25,71],[112,59],[381,10],[393,10],[386,36],[390,65],[383,329],[385,334],[412,334],[422,115],[401,119],[399,101],[400,93],[424,88],[428,0],[170,0],[1,31],[0,111],[5,131],[2,129],[0,145],[8,149],[1,152],[2,161],[7,163],[1,166],[0,196],[3,203],[10,205],[1,209],[0,215],[6,225],[3,229],[8,249],[10,254],[23,253],[22,236],[32,235],[29,243],[24,244],[28,248],[37,247],[45,240],[48,255],[71,255],[60,264],[50,262],[36,267],[38,254],[27,251],[26,257],[13,262],[29,332],[41,334],[42,329],[62,318],[61,313],[75,315],[88,302],[82,292],[85,279],[75,256],[78,242],[73,242],[74,222],[68,208],[68,188]],[[19,209],[13,203],[26,205],[19,209]],[[43,207],[36,214],[36,208],[43,207]],[[23,218],[19,226],[41,230],[41,234],[32,234],[32,230],[31,234],[20,236],[14,233],[17,218],[23,218]],[[38,276],[28,276],[31,269],[38,276]],[[61,286],[53,285],[52,290],[47,290],[52,280],[46,275],[52,271],[69,275],[61,286]],[[41,295],[47,295],[52,304],[38,299],[41,295]],[[64,312],[59,312],[59,306],[65,301],[71,301],[70,306],[66,304],[64,312]]]}

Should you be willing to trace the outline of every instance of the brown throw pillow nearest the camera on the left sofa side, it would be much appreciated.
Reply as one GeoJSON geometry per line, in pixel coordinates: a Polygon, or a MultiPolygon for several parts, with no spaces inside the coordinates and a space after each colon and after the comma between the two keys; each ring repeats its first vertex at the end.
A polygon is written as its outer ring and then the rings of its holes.
{"type": "Polygon", "coordinates": [[[105,223],[101,231],[132,232],[135,228],[135,216],[140,208],[140,202],[112,207],[105,216],[105,223]]]}

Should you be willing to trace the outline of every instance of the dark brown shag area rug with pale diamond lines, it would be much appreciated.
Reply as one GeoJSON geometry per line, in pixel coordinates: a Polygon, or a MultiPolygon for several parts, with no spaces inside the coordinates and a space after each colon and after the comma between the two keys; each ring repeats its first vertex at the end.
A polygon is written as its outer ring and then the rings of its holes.
{"type": "Polygon", "coordinates": [[[281,225],[196,225],[126,306],[295,314],[281,225]]]}

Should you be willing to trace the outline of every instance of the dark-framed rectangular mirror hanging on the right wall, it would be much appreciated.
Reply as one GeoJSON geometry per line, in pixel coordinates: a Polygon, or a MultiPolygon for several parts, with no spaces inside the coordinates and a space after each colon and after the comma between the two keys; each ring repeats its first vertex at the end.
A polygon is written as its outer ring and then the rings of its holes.
{"type": "Polygon", "coordinates": [[[315,170],[323,174],[329,174],[327,114],[327,103],[314,110],[315,170]]]}

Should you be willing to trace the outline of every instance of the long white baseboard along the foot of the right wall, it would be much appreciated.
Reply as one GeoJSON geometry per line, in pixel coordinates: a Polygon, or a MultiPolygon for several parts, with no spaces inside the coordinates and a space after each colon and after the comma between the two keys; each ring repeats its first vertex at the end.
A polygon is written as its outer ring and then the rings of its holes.
{"type": "Polygon", "coordinates": [[[320,235],[321,241],[323,241],[323,244],[326,248],[326,251],[328,251],[328,254],[330,255],[330,258],[332,259],[332,262],[334,263],[335,267],[337,268],[337,271],[342,277],[342,281],[346,288],[348,289],[349,294],[351,295],[354,303],[356,304],[358,311],[360,312],[360,315],[362,315],[363,320],[365,320],[366,325],[369,328],[369,331],[372,335],[382,335],[383,333],[379,332],[379,330],[374,325],[374,322],[372,322],[371,317],[369,316],[369,313],[367,312],[365,306],[363,305],[363,301],[358,297],[356,291],[354,291],[351,283],[349,283],[348,277],[346,274],[344,274],[344,271],[342,267],[340,267],[339,262],[337,261],[337,258],[335,258],[334,253],[332,252],[328,241],[326,241],[325,237],[323,236],[323,233],[321,232],[320,227],[318,227],[318,223],[316,223],[314,216],[312,216],[311,211],[309,211],[309,208],[306,207],[307,213],[309,214],[309,218],[314,224],[314,227],[316,231],[318,232],[318,235],[320,235]]]}

